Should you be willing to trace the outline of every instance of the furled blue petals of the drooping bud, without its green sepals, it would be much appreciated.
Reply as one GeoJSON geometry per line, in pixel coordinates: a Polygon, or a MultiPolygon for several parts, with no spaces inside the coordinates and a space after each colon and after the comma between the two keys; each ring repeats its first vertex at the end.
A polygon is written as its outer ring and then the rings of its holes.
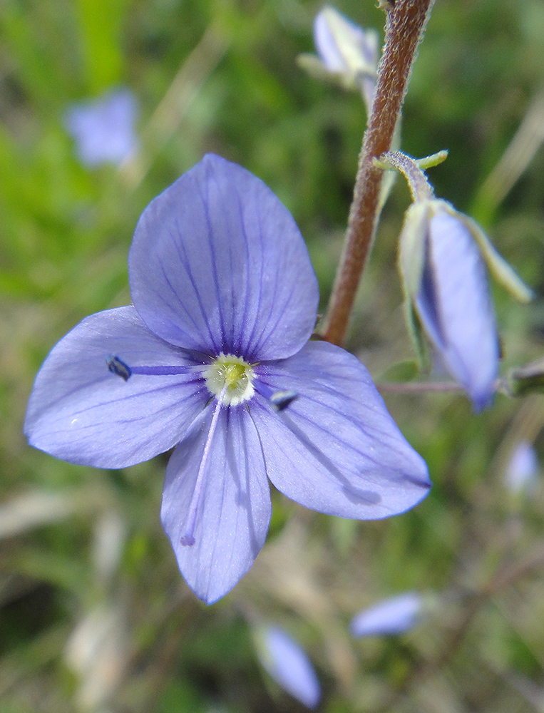
{"type": "Polygon", "coordinates": [[[466,225],[446,210],[429,220],[427,250],[416,307],[448,370],[479,411],[493,398],[499,356],[486,270],[466,225]]]}

